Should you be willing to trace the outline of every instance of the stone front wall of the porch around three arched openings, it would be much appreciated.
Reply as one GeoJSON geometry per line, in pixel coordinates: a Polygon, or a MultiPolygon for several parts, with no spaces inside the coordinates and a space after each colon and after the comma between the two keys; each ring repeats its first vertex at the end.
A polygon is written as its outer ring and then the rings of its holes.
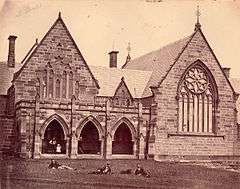
{"type": "MultiPolygon", "coordinates": [[[[46,127],[54,119],[60,121],[63,126],[64,133],[66,133],[65,140],[67,141],[67,146],[69,146],[71,136],[71,153],[67,148],[67,153],[64,156],[65,158],[69,155],[71,155],[71,158],[119,158],[118,155],[112,156],[111,147],[114,128],[116,128],[121,121],[125,122],[130,127],[130,130],[133,129],[131,130],[133,131],[132,139],[135,143],[134,155],[125,156],[125,158],[144,157],[146,127],[150,118],[149,109],[147,108],[142,108],[140,111],[139,107],[115,107],[113,104],[109,104],[107,108],[106,104],[103,106],[103,104],[85,104],[79,101],[73,101],[73,105],[71,105],[71,103],[63,102],[46,103],[46,101],[40,100],[36,103],[34,101],[21,101],[17,104],[17,109],[17,122],[21,125],[22,157],[30,158],[32,156],[34,123],[34,158],[48,157],[42,154],[42,139],[46,127]],[[100,155],[81,155],[77,153],[79,132],[88,121],[92,121],[98,130],[101,131],[99,133],[100,139],[102,140],[100,155]],[[137,141],[137,132],[139,133],[139,141],[137,141]],[[103,148],[105,139],[106,149],[103,148]]],[[[120,158],[124,157],[120,156],[120,158]]]]}

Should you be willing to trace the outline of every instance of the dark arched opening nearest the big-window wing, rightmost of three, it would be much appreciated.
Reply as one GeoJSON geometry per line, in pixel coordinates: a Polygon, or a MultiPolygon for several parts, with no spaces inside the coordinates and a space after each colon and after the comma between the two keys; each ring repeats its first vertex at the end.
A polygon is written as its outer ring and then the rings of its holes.
{"type": "Polygon", "coordinates": [[[112,154],[133,154],[132,133],[125,123],[121,123],[114,133],[112,154]]]}

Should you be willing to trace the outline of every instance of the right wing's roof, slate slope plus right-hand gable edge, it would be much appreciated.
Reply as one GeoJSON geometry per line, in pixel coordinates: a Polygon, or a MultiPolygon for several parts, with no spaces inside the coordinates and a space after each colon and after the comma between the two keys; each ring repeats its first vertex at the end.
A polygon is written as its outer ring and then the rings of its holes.
{"type": "Polygon", "coordinates": [[[138,69],[138,70],[151,70],[153,71],[151,79],[149,80],[146,89],[144,91],[144,95],[149,95],[149,87],[159,87],[162,81],[166,78],[169,71],[173,67],[173,65],[178,61],[181,54],[184,52],[194,35],[200,32],[203,39],[206,41],[207,46],[209,47],[212,55],[214,56],[218,66],[220,67],[224,77],[226,78],[229,86],[231,87],[232,91],[234,88],[231,85],[231,82],[227,78],[226,74],[224,73],[216,55],[214,54],[212,48],[210,47],[206,37],[204,36],[201,28],[196,29],[192,35],[185,37],[181,40],[178,40],[174,43],[170,43],[167,46],[160,48],[159,50],[150,52],[146,55],[143,55],[139,58],[133,59],[132,61],[126,63],[123,68],[126,69],[138,69]]]}

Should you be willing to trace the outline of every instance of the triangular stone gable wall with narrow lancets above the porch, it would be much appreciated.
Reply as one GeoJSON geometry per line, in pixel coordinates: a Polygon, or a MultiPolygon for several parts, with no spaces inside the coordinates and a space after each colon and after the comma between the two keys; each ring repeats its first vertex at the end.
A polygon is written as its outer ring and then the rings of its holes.
{"type": "MultiPolygon", "coordinates": [[[[15,85],[15,102],[19,100],[35,100],[36,93],[39,91],[40,97],[50,101],[71,101],[72,96],[62,99],[61,91],[63,88],[69,88],[72,85],[72,92],[75,94],[76,82],[79,84],[83,94],[78,99],[82,101],[93,101],[93,97],[98,93],[97,82],[89,70],[84,58],[73,41],[69,31],[61,18],[58,18],[54,25],[50,28],[42,41],[26,60],[23,67],[16,74],[15,85]],[[53,96],[49,97],[49,77],[47,81],[43,81],[45,73],[53,71],[53,96]],[[63,87],[63,72],[67,72],[68,83],[63,87]],[[73,75],[72,80],[69,79],[70,72],[73,75]],[[56,81],[60,81],[60,98],[56,99],[56,81]],[[40,82],[40,83],[38,83],[40,82]],[[38,86],[40,85],[40,86],[38,86]],[[43,85],[47,85],[46,95],[43,95],[43,85]]],[[[81,92],[80,91],[80,92],[81,92]]],[[[70,93],[69,93],[70,94],[70,93]]]]}

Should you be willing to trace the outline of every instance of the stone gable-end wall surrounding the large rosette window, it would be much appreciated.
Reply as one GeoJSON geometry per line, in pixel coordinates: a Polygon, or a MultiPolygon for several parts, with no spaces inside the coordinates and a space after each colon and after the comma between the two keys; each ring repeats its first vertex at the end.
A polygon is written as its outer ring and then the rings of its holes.
{"type": "Polygon", "coordinates": [[[235,94],[202,33],[198,30],[183,53],[155,91],[157,102],[157,135],[155,159],[165,156],[234,155],[237,142],[235,94]],[[178,132],[177,87],[185,70],[200,60],[212,73],[217,89],[218,104],[214,133],[178,132]]]}

